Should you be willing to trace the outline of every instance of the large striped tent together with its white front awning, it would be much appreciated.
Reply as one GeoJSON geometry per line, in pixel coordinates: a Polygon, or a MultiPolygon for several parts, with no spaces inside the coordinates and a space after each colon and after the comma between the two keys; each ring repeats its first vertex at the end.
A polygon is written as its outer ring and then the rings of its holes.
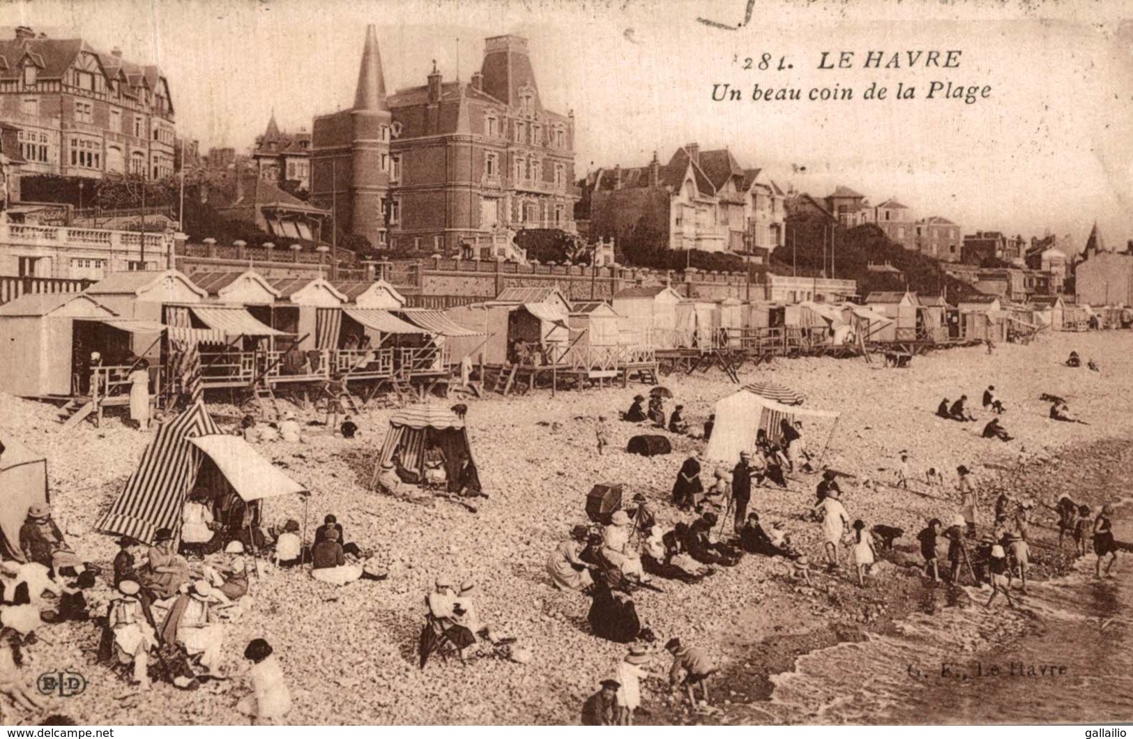
{"type": "Polygon", "coordinates": [[[240,436],[224,434],[197,402],[157,428],[142,461],[97,528],[150,543],[159,528],[181,527],[181,507],[198,481],[249,502],[306,493],[240,436]]]}

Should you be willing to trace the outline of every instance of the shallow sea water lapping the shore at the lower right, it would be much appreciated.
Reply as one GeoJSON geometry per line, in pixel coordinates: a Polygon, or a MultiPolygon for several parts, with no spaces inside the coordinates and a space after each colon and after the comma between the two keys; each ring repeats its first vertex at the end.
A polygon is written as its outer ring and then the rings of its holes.
{"type": "MultiPolygon", "coordinates": [[[[1118,540],[1133,541],[1130,513],[1117,510],[1118,540]]],[[[1133,554],[1118,553],[1111,579],[1094,561],[1013,589],[1014,609],[1002,594],[987,608],[989,588],[964,588],[956,605],[926,588],[931,612],[896,636],[813,652],[773,677],[768,708],[785,723],[1133,721],[1133,554]]]]}

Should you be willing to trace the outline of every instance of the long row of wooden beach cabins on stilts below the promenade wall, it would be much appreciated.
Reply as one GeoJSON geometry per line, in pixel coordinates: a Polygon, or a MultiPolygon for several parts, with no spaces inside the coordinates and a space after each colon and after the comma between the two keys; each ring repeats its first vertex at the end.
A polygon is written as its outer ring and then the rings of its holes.
{"type": "Polygon", "coordinates": [[[440,311],[408,307],[384,280],[119,272],[82,292],[0,306],[0,391],[60,402],[77,423],[128,402],[140,358],[159,404],[227,391],[269,410],[278,392],[352,405],[378,392],[411,400],[454,387],[508,394],[656,382],[662,370],[714,364],[735,379],[748,359],[1005,341],[1084,326],[1088,312],[1060,299],[953,307],[912,292],[875,292],[861,305],[704,300],[640,284],[581,303],[555,287],[511,287],[440,311]]]}

